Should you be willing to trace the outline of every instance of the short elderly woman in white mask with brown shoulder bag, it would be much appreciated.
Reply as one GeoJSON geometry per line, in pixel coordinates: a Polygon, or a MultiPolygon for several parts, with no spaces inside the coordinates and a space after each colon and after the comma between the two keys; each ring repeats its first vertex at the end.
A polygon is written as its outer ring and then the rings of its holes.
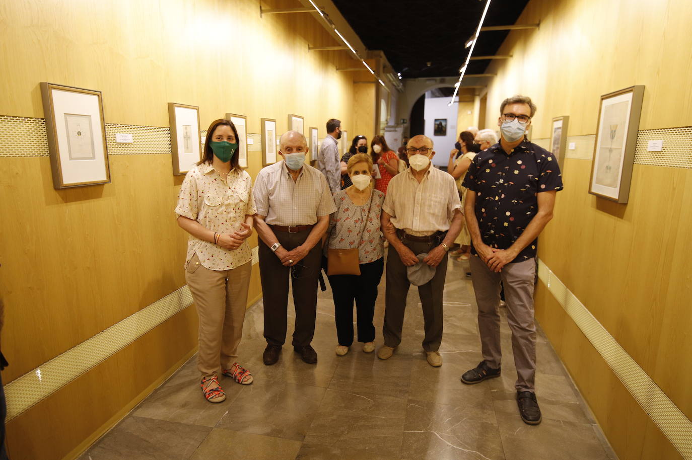
{"type": "Polygon", "coordinates": [[[363,343],[365,353],[374,351],[375,328],[372,317],[377,286],[384,269],[380,214],[385,194],[373,187],[372,159],[369,155],[352,156],[347,167],[353,185],[334,194],[336,212],[329,219],[329,241],[326,245],[327,274],[334,297],[338,356],[348,353],[353,343],[354,300],[358,318],[358,342],[363,343]],[[351,259],[348,257],[349,250],[352,250],[351,259]],[[336,259],[340,261],[339,266],[336,259]],[[347,259],[351,261],[350,264],[345,264],[347,259]],[[350,274],[343,274],[347,272],[350,274]]]}

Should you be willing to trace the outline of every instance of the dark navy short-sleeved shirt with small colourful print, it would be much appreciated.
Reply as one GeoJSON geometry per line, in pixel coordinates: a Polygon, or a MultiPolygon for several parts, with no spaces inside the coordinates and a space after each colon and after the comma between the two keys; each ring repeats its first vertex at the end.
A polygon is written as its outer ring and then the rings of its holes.
{"type": "MultiPolygon", "coordinates": [[[[462,185],[476,194],[475,216],[481,239],[499,249],[509,248],[534,218],[538,193],[563,189],[555,156],[528,140],[509,155],[499,142],[477,154],[462,185]]],[[[536,257],[537,245],[538,238],[512,262],[536,257]]],[[[473,246],[471,252],[477,255],[473,246]]]]}

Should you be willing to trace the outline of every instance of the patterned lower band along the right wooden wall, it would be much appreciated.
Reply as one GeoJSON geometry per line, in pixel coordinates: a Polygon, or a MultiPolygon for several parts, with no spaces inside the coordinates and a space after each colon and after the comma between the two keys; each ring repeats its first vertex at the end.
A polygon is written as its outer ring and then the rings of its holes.
{"type": "Polygon", "coordinates": [[[682,457],[692,459],[692,422],[689,418],[541,260],[538,261],[538,279],[579,326],[668,441],[671,441],[682,457]]]}

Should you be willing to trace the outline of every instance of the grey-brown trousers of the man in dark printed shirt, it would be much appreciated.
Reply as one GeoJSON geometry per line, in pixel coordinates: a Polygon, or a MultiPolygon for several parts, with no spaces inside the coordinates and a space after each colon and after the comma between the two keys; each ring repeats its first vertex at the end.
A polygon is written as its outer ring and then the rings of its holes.
{"type": "Polygon", "coordinates": [[[473,291],[478,304],[478,330],[483,359],[493,369],[500,367],[500,280],[507,302],[507,323],[512,331],[512,352],[517,368],[514,387],[520,392],[534,392],[536,378],[536,323],[534,322],[534,258],[507,264],[494,273],[480,257],[471,256],[473,291]]]}

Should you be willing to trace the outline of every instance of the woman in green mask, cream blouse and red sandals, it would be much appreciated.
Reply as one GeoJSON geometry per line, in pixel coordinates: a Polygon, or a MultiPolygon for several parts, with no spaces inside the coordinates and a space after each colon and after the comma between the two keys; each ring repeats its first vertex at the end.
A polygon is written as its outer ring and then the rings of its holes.
{"type": "Polygon", "coordinates": [[[178,225],[190,234],[185,257],[188,282],[199,315],[202,394],[210,403],[226,399],[218,380],[253,382],[237,362],[243,332],[256,213],[250,174],[238,165],[238,132],[232,122],[215,120],[204,142],[204,158],[190,169],[180,189],[178,225]]]}

